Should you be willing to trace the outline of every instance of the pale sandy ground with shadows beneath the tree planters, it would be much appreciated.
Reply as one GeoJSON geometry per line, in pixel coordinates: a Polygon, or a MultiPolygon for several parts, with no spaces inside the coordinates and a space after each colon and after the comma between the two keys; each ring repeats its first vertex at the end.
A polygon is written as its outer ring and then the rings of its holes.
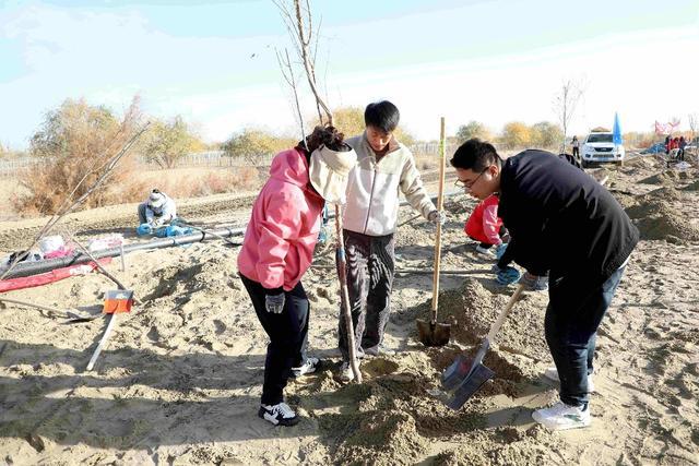
{"type": "MultiPolygon", "coordinates": [[[[332,253],[318,251],[304,278],[311,300],[310,346],[323,370],[292,382],[287,399],[304,420],[274,428],[257,417],[266,337],[236,276],[237,250],[222,242],[129,254],[109,270],[141,304],[119,315],[95,370],[85,366],[106,319],[67,324],[62,314],[0,311],[0,461],[8,464],[697,464],[699,458],[699,171],[629,160],[609,190],[642,234],[600,328],[588,429],[549,432],[531,411],[556,399],[542,377],[545,292],[514,306],[486,365],[496,377],[461,410],[439,399],[440,371],[473,351],[513,288],[497,286],[463,223],[474,202],[447,204],[440,321],[452,342],[423,347],[431,275],[399,274],[386,345],[392,356],[362,366],[365,383],[335,380],[339,287],[332,253]]],[[[248,207],[226,196],[201,201],[212,225],[245,223],[248,207]]],[[[116,208],[116,207],[115,207],[116,208]]],[[[123,206],[122,208],[131,208],[123,206]]],[[[125,211],[126,212],[126,211],[125,211]]],[[[192,207],[192,212],[196,208],[192,207]]],[[[407,210],[402,217],[414,214],[407,210]]],[[[86,218],[74,225],[91,224],[86,218]]],[[[198,218],[201,219],[201,218],[198,218]]],[[[109,230],[97,225],[91,235],[109,230]]],[[[118,229],[118,225],[116,228],[118,229]]],[[[3,225],[0,247],[14,247],[3,225]]],[[[434,229],[398,232],[398,268],[431,267],[434,229]]],[[[92,274],[7,297],[96,313],[114,286],[92,274]]]]}

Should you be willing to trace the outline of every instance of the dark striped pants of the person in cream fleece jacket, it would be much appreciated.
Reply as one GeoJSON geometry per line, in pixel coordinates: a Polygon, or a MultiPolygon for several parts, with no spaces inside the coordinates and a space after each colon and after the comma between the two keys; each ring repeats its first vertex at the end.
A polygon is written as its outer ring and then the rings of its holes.
{"type": "MultiPolygon", "coordinates": [[[[344,230],[344,237],[356,350],[359,355],[365,351],[378,354],[391,313],[395,241],[393,235],[372,237],[348,230],[344,230]]],[[[337,336],[342,358],[348,361],[347,328],[342,308],[337,336]]]]}

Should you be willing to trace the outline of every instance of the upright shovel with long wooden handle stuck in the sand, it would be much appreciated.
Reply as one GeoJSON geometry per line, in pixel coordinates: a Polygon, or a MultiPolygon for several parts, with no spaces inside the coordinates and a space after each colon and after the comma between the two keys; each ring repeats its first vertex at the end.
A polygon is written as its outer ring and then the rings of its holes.
{"type": "MultiPolygon", "coordinates": [[[[441,118],[441,133],[439,138],[439,196],[437,198],[437,211],[445,206],[445,117],[441,118]]],[[[435,240],[435,271],[433,274],[433,309],[431,319],[425,322],[416,321],[419,340],[425,346],[445,346],[451,336],[451,325],[437,323],[437,304],[439,302],[439,263],[441,261],[441,224],[437,223],[437,237],[435,240]]]]}

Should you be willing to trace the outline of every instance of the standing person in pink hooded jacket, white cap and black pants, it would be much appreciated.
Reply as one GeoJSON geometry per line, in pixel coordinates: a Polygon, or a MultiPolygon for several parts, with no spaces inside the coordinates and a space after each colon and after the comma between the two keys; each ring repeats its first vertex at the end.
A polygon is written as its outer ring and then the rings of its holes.
{"type": "Polygon", "coordinates": [[[238,272],[270,337],[258,416],[275,426],[299,421],[284,403],[289,375],[315,372],[320,363],[306,357],[309,303],[300,279],[312,261],[323,204],[344,203],[356,159],[342,133],[317,127],[305,144],[274,157],[252,206],[238,272]]]}

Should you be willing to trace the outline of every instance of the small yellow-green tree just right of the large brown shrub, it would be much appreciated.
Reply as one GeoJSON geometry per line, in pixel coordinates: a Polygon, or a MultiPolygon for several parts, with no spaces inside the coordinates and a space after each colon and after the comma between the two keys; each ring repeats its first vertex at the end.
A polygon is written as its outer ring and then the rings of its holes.
{"type": "Polygon", "coordinates": [[[173,168],[179,158],[203,148],[204,144],[179,115],[170,122],[154,121],[143,144],[145,157],[161,168],[173,168]]]}

